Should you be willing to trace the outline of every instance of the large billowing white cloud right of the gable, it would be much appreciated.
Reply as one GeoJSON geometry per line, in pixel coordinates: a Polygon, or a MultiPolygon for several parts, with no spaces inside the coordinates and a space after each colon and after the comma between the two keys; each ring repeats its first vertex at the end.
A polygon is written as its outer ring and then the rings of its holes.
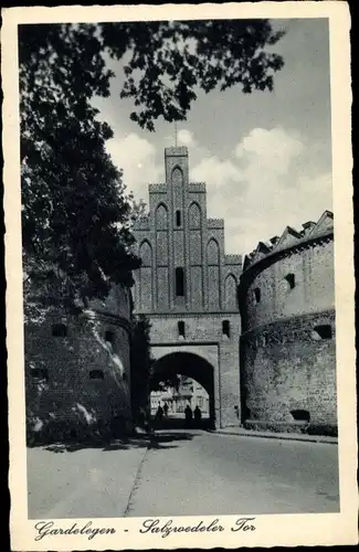
{"type": "Polygon", "coordinates": [[[228,159],[207,157],[191,174],[208,183],[208,215],[224,217],[230,253],[249,253],[331,209],[331,174],[318,173],[310,144],[279,127],[252,129],[228,159]]]}

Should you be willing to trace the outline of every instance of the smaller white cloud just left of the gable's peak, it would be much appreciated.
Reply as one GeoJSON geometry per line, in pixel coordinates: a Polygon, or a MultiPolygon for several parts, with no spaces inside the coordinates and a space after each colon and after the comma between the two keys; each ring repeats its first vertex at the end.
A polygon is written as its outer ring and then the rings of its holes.
{"type": "Polygon", "coordinates": [[[123,180],[136,200],[147,200],[148,182],[156,182],[162,168],[156,164],[156,148],[136,132],[115,137],[106,144],[114,163],[123,169],[123,180]]]}

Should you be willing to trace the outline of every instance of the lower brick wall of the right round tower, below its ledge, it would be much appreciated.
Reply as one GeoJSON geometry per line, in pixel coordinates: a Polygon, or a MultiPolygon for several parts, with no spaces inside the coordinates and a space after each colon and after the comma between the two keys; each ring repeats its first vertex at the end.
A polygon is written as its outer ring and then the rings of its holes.
{"type": "Polygon", "coordinates": [[[314,426],[337,426],[335,314],[326,311],[262,326],[241,338],[244,416],[293,422],[310,414],[314,426]],[[331,339],[315,328],[330,325],[331,339]]]}

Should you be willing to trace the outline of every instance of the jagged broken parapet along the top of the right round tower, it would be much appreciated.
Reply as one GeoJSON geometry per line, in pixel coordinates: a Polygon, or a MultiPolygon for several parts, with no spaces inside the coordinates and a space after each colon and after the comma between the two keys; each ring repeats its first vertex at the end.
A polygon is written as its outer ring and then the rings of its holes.
{"type": "Polygon", "coordinates": [[[286,226],[282,236],[273,236],[268,242],[260,242],[255,250],[245,255],[243,270],[254,265],[263,257],[272,255],[282,250],[297,245],[302,245],[309,240],[321,237],[334,231],[334,215],[331,211],[325,211],[318,222],[308,221],[303,225],[303,230],[298,232],[292,226],[286,226]]]}

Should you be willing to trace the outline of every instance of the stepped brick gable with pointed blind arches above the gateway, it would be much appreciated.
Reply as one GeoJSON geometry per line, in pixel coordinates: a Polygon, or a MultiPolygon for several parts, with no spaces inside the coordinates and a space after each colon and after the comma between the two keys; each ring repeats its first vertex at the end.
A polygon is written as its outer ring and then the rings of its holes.
{"type": "Polygon", "coordinates": [[[189,182],[188,161],[186,148],[166,149],[166,183],[149,185],[148,227],[134,229],[142,259],[134,273],[138,312],[237,310],[242,259],[226,264],[223,221],[208,221],[205,187],[189,182]],[[176,267],[184,270],[186,297],[176,297],[176,267]]]}

